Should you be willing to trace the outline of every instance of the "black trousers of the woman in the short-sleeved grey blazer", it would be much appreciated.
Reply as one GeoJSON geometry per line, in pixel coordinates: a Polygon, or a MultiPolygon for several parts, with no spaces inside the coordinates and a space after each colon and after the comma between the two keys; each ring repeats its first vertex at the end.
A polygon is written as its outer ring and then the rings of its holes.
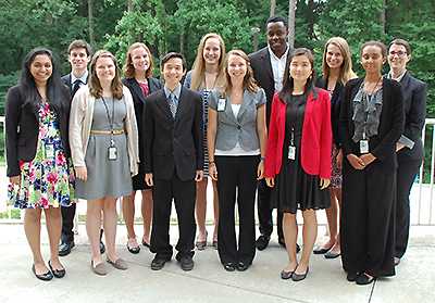
{"type": "Polygon", "coordinates": [[[254,203],[258,155],[215,156],[217,168],[219,229],[217,252],[222,263],[243,261],[251,264],[256,255],[254,203]],[[239,214],[238,245],[235,230],[235,204],[239,214]]]}

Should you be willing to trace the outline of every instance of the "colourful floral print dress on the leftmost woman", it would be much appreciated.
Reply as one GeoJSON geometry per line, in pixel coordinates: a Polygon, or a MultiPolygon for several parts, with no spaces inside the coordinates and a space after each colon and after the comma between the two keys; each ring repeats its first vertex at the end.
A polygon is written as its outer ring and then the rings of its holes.
{"type": "Polygon", "coordinates": [[[62,144],[59,122],[50,104],[39,106],[39,135],[35,159],[20,162],[20,185],[9,185],[9,203],[17,209],[70,206],[74,172],[62,144]]]}

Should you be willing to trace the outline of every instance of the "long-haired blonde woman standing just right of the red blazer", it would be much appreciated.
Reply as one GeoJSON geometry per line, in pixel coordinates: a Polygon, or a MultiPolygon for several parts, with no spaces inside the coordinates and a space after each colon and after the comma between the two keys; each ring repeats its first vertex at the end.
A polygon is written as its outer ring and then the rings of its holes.
{"type": "Polygon", "coordinates": [[[333,37],[325,43],[322,62],[323,75],[316,86],[330,92],[331,96],[331,122],[333,126],[333,171],[331,176],[331,207],[326,209],[326,218],[330,239],[314,249],[314,254],[324,254],[326,258],[335,258],[340,255],[340,241],[338,231],[338,218],[341,209],[341,141],[338,132],[338,119],[343,91],[348,80],[357,75],[352,71],[352,59],[349,45],[341,37],[333,37]]]}

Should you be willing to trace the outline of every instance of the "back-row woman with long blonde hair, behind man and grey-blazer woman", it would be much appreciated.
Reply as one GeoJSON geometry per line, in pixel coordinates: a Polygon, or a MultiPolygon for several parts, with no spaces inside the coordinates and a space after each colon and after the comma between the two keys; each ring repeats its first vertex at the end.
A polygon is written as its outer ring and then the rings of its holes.
{"type": "MultiPolygon", "coordinates": [[[[204,178],[197,184],[197,202],[196,202],[196,218],[198,225],[198,238],[196,247],[198,250],[203,250],[207,247],[207,229],[206,229],[206,213],[207,213],[207,185],[209,173],[209,155],[207,150],[207,126],[208,126],[208,109],[209,94],[212,89],[222,87],[225,83],[224,75],[224,56],[225,43],[222,37],[215,33],[204,35],[198,46],[197,56],[194,62],[194,67],[186,75],[184,85],[187,88],[197,90],[202,96],[203,113],[204,113],[204,178]]],[[[215,181],[213,184],[213,210],[214,210],[214,230],[212,245],[217,249],[217,190],[215,181]]]]}

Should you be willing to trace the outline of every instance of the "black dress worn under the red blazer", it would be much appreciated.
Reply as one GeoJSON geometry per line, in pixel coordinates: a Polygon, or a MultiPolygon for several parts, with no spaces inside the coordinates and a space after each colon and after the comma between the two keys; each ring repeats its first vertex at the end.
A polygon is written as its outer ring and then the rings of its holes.
{"type": "Polygon", "coordinates": [[[320,178],[307,174],[300,162],[300,146],[307,98],[293,96],[287,100],[283,163],[272,190],[272,207],[296,214],[299,210],[322,210],[331,206],[328,189],[320,189],[320,178]],[[288,148],[296,148],[295,160],[288,159],[288,148]]]}

